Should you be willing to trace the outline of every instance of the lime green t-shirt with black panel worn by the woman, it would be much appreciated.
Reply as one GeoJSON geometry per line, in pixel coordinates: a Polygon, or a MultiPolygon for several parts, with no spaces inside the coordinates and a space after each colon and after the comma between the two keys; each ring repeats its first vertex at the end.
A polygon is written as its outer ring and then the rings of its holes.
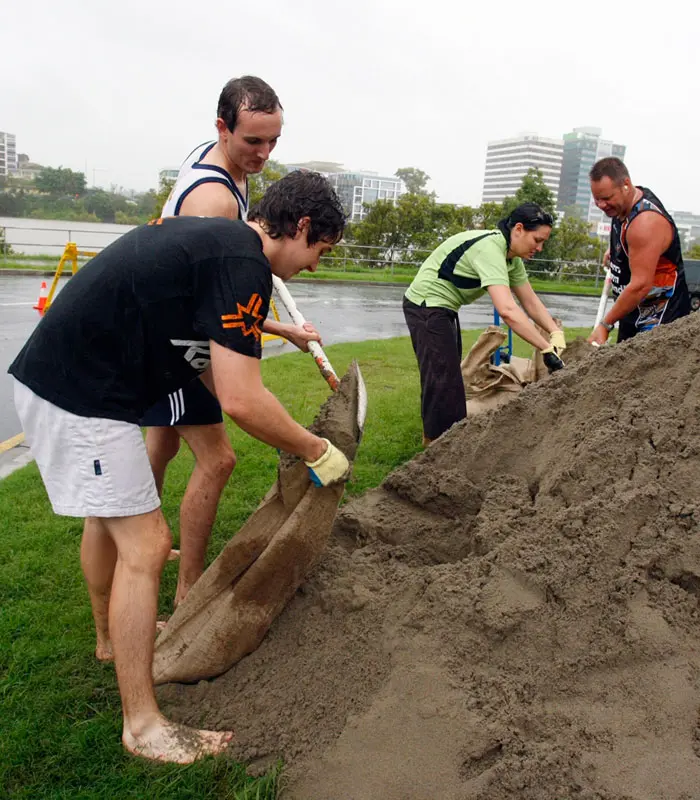
{"type": "Polygon", "coordinates": [[[459,311],[488,286],[522,286],[527,272],[521,258],[506,259],[500,231],[463,231],[450,236],[426,258],[406,297],[416,305],[459,311]]]}

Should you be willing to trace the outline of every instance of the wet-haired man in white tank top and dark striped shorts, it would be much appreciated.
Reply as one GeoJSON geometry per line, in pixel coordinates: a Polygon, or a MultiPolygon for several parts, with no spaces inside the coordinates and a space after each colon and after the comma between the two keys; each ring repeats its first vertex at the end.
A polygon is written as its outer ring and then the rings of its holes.
{"type": "MultiPolygon", "coordinates": [[[[229,81],[219,97],[218,140],[196,147],[185,159],[162,215],[246,219],[248,175],[261,172],[282,131],[282,106],[260,78],[229,81]]],[[[311,324],[266,320],[263,330],[283,336],[302,350],[320,340],[311,324]]],[[[177,455],[180,437],[190,446],[195,467],[180,506],[180,570],[175,605],[204,570],[207,544],[219,498],[236,457],[216,397],[195,380],[163,398],[141,420],[158,491],[177,455]]]]}

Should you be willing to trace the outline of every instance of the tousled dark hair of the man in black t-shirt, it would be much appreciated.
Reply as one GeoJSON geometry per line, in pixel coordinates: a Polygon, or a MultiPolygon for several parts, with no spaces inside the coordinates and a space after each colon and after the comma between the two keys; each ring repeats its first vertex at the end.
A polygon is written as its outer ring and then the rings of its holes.
{"type": "Polygon", "coordinates": [[[273,183],[248,212],[273,238],[294,237],[302,217],[309,217],[308,242],[335,244],[345,229],[345,212],[330,183],[318,172],[295,170],[273,183]]]}

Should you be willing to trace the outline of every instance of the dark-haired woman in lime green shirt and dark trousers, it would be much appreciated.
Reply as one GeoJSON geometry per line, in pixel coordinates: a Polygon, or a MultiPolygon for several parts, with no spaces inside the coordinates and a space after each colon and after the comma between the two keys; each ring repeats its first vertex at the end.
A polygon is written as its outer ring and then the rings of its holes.
{"type": "Polygon", "coordinates": [[[562,368],[564,333],[530,286],[523,264],[523,258],[542,251],[552,224],[552,217],[536,203],[523,203],[498,223],[497,230],[464,231],[444,241],[406,290],[403,311],[420,371],[424,444],[467,415],[457,312],[486,292],[501,319],[544,354],[549,371],[562,368]]]}

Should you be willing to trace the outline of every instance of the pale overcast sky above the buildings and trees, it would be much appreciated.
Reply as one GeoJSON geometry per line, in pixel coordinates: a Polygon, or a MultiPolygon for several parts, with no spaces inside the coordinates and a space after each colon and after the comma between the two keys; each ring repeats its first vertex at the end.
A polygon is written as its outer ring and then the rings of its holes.
{"type": "MultiPolygon", "coordinates": [[[[9,6],[11,5],[11,8],[9,6]]],[[[700,213],[694,3],[25,0],[3,15],[0,130],[98,185],[155,187],[213,138],[219,92],[259,75],[285,109],[273,158],[393,174],[478,204],[486,143],[582,125],[635,182],[700,213]]]]}

